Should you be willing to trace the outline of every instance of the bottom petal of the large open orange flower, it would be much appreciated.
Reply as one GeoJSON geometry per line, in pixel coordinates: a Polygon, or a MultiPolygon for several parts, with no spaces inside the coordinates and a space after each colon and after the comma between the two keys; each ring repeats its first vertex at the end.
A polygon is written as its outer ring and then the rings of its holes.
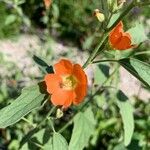
{"type": "Polygon", "coordinates": [[[71,105],[75,97],[76,95],[73,91],[66,91],[66,90],[59,89],[52,94],[51,101],[55,106],[61,105],[64,108],[66,108],[71,105]]]}

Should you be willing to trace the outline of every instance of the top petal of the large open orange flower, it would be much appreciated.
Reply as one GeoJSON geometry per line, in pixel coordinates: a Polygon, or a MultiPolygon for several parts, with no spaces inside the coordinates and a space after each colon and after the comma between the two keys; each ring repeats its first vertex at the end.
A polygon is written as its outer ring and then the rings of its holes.
{"type": "Polygon", "coordinates": [[[59,75],[71,74],[73,65],[69,60],[61,59],[54,65],[55,73],[59,75]]]}

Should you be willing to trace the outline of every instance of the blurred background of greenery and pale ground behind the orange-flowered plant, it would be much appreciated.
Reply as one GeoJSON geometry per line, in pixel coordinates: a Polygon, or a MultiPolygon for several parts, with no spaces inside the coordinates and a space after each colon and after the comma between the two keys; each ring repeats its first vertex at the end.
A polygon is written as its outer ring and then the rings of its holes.
{"type": "MultiPolygon", "coordinates": [[[[125,5],[127,5],[125,3],[125,5]]],[[[83,64],[90,52],[99,43],[103,30],[93,15],[94,9],[103,12],[100,0],[53,0],[50,8],[45,9],[42,0],[0,0],[0,108],[11,103],[24,86],[37,83],[43,78],[43,72],[35,64],[33,55],[40,56],[49,65],[62,57],[83,64]]],[[[135,21],[144,25],[147,37],[150,37],[150,7],[134,8],[124,19],[125,30],[132,27],[135,21]]],[[[107,15],[107,14],[105,14],[107,15]]],[[[107,16],[106,16],[107,17],[107,16]]],[[[122,52],[121,57],[132,55],[150,63],[149,41],[145,41],[135,51],[122,52]]],[[[113,58],[115,51],[106,43],[106,52],[100,59],[113,58]]],[[[102,84],[113,64],[90,66],[86,71],[89,76],[89,87],[102,84]],[[108,72],[106,74],[106,72],[108,72]]],[[[108,91],[97,96],[95,101],[100,109],[97,120],[100,131],[91,139],[86,149],[131,149],[150,148],[150,92],[125,69],[120,68],[119,87],[130,97],[135,108],[135,132],[133,141],[124,148],[119,141],[121,122],[116,122],[118,110],[115,104],[109,103],[112,98],[108,91]],[[100,99],[100,101],[99,101],[100,99]],[[96,138],[96,139],[94,139],[96,138]],[[134,146],[133,146],[134,145],[134,146]],[[135,147],[135,145],[137,147],[135,147]]],[[[28,119],[38,122],[44,115],[43,110],[28,115],[28,119]]],[[[29,130],[27,123],[21,121],[7,129],[0,129],[0,149],[18,149],[19,141],[29,130]]],[[[67,131],[68,136],[71,129],[67,131]]],[[[37,149],[37,148],[34,148],[37,149]]]]}

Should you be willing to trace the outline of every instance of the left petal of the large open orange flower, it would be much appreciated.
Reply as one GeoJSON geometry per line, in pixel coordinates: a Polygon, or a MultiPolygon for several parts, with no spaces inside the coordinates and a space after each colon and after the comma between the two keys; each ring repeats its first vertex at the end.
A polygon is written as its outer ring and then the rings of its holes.
{"type": "Polygon", "coordinates": [[[48,93],[52,94],[60,88],[61,78],[56,74],[45,75],[44,81],[47,86],[48,93]]]}

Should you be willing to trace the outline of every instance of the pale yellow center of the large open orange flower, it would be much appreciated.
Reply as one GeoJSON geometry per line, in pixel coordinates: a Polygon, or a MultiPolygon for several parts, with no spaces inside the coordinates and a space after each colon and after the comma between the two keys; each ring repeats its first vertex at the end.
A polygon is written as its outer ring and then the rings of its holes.
{"type": "Polygon", "coordinates": [[[73,90],[77,85],[77,79],[73,75],[66,75],[62,77],[61,87],[65,90],[73,90]]]}

